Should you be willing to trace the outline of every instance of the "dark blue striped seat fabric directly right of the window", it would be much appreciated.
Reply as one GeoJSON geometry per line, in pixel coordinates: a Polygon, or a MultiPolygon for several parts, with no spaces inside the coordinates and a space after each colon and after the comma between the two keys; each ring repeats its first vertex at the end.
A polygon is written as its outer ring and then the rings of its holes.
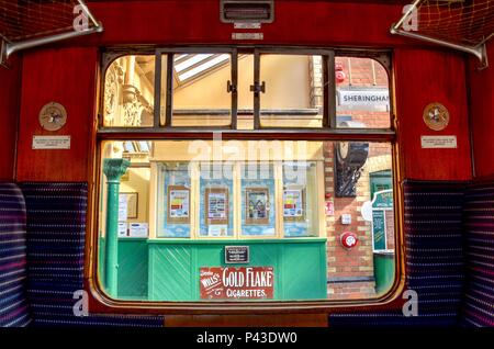
{"type": "Polygon", "coordinates": [[[463,291],[462,210],[465,183],[406,181],[406,290],[418,316],[390,312],[329,315],[330,326],[458,325],[463,291]]]}

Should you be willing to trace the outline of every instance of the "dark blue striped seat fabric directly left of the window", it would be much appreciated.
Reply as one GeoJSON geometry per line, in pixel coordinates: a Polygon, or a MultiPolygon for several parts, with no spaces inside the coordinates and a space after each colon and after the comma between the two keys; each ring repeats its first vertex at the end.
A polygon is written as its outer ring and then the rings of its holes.
{"type": "Polygon", "coordinates": [[[35,326],[161,327],[162,316],[76,316],[83,290],[86,183],[23,183],[27,211],[27,296],[35,326]]]}

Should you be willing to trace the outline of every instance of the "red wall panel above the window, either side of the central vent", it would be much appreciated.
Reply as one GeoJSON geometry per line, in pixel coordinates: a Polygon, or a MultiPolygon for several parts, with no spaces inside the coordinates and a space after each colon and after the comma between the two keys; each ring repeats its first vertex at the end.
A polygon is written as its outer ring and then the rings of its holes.
{"type": "MultiPolygon", "coordinates": [[[[218,0],[104,1],[90,7],[105,31],[91,43],[231,43],[233,24],[220,22],[218,0]]],[[[262,24],[262,44],[392,45],[402,5],[274,1],[274,23],[262,24]]],[[[236,32],[242,32],[237,30],[236,32]]],[[[251,43],[251,42],[250,42],[251,43]]]]}

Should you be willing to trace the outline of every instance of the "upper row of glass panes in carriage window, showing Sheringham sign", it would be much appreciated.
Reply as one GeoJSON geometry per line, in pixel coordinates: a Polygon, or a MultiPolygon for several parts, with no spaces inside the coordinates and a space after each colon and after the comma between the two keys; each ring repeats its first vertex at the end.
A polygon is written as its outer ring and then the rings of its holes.
{"type": "Polygon", "coordinates": [[[160,57],[156,102],[154,55],[123,56],[109,66],[104,127],[156,127],[157,105],[159,127],[391,128],[390,79],[373,58],[336,56],[332,82],[328,54],[184,50],[160,57]]]}

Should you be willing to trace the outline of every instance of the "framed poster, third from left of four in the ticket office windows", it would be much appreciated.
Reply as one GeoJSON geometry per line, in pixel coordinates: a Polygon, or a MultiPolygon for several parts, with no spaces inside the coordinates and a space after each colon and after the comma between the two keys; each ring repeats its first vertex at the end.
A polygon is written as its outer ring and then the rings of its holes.
{"type": "Polygon", "coordinates": [[[269,224],[269,188],[245,189],[245,224],[269,224]]]}

